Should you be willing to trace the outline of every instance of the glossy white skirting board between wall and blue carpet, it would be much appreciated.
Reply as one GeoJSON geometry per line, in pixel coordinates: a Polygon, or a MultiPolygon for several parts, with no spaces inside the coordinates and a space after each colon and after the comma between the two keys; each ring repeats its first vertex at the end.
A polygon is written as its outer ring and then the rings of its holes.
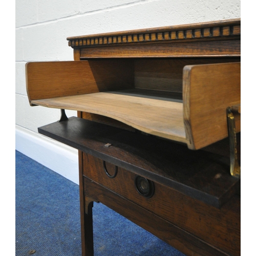
{"type": "Polygon", "coordinates": [[[79,184],[78,151],[75,148],[16,125],[15,149],[79,184]]]}

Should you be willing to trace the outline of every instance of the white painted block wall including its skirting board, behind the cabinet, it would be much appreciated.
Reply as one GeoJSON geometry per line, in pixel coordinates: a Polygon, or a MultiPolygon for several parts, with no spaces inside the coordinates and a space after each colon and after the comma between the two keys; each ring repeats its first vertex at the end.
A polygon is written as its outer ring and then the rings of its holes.
{"type": "Polygon", "coordinates": [[[239,17],[240,0],[16,0],[16,150],[78,184],[77,151],[37,133],[60,111],[31,107],[25,79],[28,61],[73,60],[68,36],[239,17]]]}

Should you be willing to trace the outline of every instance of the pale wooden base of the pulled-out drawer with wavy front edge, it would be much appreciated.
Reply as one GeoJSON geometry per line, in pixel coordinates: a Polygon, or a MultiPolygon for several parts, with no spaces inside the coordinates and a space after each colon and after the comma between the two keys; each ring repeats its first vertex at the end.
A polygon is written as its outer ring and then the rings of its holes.
{"type": "Polygon", "coordinates": [[[187,142],[181,102],[134,97],[121,93],[92,93],[31,102],[49,108],[78,110],[108,116],[148,134],[187,142]]]}

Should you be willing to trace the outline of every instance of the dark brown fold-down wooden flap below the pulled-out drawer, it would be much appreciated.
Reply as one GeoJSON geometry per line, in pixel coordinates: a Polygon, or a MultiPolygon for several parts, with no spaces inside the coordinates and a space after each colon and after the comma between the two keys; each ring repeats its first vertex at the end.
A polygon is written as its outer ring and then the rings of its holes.
{"type": "Polygon", "coordinates": [[[240,179],[230,176],[228,158],[152,136],[76,117],[38,132],[216,207],[239,188],[240,179]],[[107,143],[112,146],[105,147],[107,143]]]}

